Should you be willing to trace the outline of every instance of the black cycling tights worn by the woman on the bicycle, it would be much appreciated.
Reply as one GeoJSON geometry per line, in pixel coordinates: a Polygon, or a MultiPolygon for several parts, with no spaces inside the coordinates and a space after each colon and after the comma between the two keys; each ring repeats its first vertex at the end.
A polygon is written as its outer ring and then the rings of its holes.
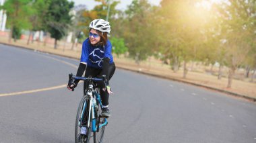
{"type": "MultiPolygon", "coordinates": [[[[116,66],[115,66],[114,62],[112,64],[109,64],[109,68],[108,68],[109,80],[114,75],[115,69],[116,69],[116,66]]],[[[85,75],[85,77],[89,77],[89,76],[101,77],[102,73],[103,73],[102,69],[92,68],[90,66],[87,66],[86,67],[86,75],[85,75]]],[[[106,106],[106,105],[108,105],[109,94],[108,94],[107,91],[103,91],[102,90],[104,88],[104,83],[103,82],[102,83],[101,82],[98,83],[98,86],[100,87],[100,98],[102,100],[102,105],[106,106]]],[[[88,83],[84,82],[84,89],[86,89],[86,87],[88,87],[88,83]]],[[[84,94],[86,94],[86,93],[84,93],[84,94]]]]}

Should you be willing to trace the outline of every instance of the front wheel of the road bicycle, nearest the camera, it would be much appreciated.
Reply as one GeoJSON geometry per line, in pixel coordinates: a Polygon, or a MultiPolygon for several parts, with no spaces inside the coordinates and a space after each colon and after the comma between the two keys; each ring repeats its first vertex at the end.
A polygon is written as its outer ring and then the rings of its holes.
{"type": "Polygon", "coordinates": [[[83,96],[77,109],[77,115],[75,120],[75,143],[89,143],[91,138],[91,125],[88,127],[88,115],[89,115],[89,97],[83,96]],[[83,115],[82,115],[83,114],[83,115]],[[80,134],[82,127],[86,129],[86,136],[80,134]]]}

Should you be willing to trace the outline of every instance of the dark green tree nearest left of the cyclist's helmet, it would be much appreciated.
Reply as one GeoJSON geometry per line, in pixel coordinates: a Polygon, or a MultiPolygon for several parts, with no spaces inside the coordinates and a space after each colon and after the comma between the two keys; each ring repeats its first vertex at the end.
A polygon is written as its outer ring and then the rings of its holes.
{"type": "Polygon", "coordinates": [[[67,0],[51,0],[46,13],[46,26],[51,38],[55,38],[55,48],[57,48],[57,40],[61,40],[67,34],[71,24],[69,11],[73,8],[73,4],[72,1],[67,0]]]}

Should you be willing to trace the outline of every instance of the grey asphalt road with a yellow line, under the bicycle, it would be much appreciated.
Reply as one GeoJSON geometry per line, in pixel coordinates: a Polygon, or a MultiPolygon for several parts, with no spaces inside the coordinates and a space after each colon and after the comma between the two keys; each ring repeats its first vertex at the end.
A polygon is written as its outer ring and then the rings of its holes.
{"type": "MultiPolygon", "coordinates": [[[[0,143],[74,142],[79,61],[0,44],[0,143]]],[[[256,142],[256,104],[117,69],[104,142],[256,142]]]]}

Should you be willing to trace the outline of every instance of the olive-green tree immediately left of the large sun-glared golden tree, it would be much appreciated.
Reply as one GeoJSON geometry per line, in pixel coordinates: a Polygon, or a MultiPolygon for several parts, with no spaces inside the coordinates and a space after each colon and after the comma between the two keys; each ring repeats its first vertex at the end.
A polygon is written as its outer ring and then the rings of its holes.
{"type": "Polygon", "coordinates": [[[133,0],[125,11],[127,17],[123,26],[123,38],[129,48],[129,56],[139,64],[154,53],[154,23],[150,22],[153,7],[146,0],[133,0]]]}

